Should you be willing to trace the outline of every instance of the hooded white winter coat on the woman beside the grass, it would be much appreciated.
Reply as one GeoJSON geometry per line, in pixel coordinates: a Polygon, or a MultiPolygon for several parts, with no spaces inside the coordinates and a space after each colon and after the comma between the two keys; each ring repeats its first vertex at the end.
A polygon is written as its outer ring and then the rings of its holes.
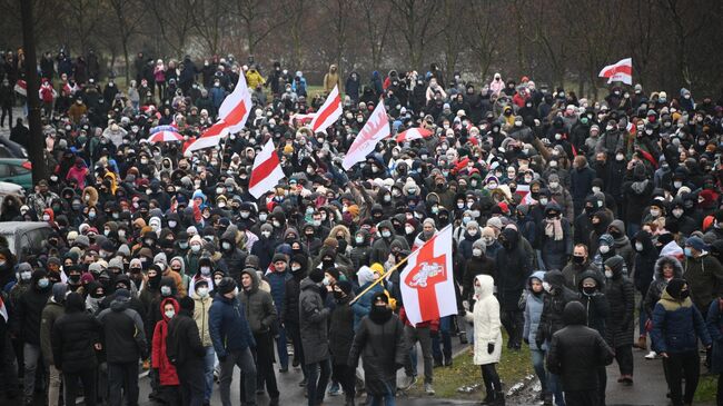
{"type": "Polygon", "coordinates": [[[499,321],[499,303],[493,295],[494,280],[488,275],[477,275],[479,286],[475,286],[475,307],[465,316],[474,323],[474,364],[487,365],[499,363],[502,356],[502,323],[499,321]],[[494,349],[489,353],[488,345],[494,349]]]}

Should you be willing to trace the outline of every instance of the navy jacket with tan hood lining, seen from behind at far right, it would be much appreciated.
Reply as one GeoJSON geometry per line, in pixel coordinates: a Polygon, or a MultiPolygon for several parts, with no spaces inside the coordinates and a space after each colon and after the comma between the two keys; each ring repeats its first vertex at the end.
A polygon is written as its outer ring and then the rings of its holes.
{"type": "Polygon", "coordinates": [[[705,346],[711,344],[703,316],[693,301],[674,299],[667,290],[653,310],[651,338],[657,353],[697,351],[699,338],[705,346]]]}

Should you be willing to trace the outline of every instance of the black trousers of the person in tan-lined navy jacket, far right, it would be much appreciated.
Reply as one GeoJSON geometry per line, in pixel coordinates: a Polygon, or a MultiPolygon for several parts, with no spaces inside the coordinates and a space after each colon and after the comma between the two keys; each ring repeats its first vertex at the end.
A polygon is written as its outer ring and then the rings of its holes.
{"type": "Polygon", "coordinates": [[[667,367],[667,386],[671,389],[673,405],[692,403],[701,377],[701,358],[697,350],[667,353],[667,358],[663,358],[663,365],[667,367]],[[681,388],[683,378],[685,378],[685,393],[681,388]]]}

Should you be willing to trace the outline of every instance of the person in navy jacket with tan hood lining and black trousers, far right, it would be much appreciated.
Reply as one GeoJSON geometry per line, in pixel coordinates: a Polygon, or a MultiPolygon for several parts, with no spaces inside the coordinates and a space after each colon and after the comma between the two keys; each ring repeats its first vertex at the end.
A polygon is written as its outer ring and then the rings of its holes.
{"type": "Polygon", "coordinates": [[[651,339],[653,349],[663,357],[667,385],[674,405],[692,404],[701,373],[699,340],[711,347],[711,336],[693,300],[685,279],[667,283],[653,309],[651,339]],[[685,377],[685,393],[681,390],[685,377]]]}

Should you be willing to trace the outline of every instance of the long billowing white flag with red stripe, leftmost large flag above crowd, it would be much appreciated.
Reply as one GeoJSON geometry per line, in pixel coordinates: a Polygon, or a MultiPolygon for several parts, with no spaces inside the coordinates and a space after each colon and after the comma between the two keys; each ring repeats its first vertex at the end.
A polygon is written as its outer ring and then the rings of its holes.
{"type": "Polygon", "coordinates": [[[234,91],[224,99],[218,109],[219,120],[206,130],[187,150],[196,151],[204,148],[216,147],[229,132],[239,132],[246,126],[246,120],[251,112],[251,92],[248,91],[244,75],[238,77],[238,85],[234,91]]]}

